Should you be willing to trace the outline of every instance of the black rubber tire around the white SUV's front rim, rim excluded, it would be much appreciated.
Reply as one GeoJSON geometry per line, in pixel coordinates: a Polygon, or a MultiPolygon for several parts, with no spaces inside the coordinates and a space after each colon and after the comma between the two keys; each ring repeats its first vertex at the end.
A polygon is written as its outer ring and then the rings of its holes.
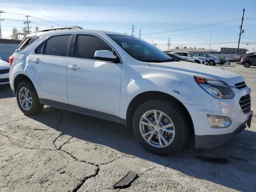
{"type": "Polygon", "coordinates": [[[185,114],[186,113],[184,112],[182,106],[171,103],[168,100],[146,101],[141,104],[134,113],[132,120],[134,135],[138,142],[149,152],[162,156],[177,154],[184,148],[185,144],[187,143],[190,132],[188,117],[185,114]],[[175,126],[174,140],[170,145],[164,148],[157,148],[148,144],[148,142],[144,140],[142,134],[140,133],[140,118],[145,112],[149,110],[160,110],[164,112],[172,119],[172,122],[175,126]]]}

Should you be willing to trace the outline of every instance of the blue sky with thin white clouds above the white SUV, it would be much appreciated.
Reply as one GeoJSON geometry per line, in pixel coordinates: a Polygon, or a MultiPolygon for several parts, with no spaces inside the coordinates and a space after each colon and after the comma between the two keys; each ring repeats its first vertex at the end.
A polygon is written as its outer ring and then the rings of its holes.
{"type": "Polygon", "coordinates": [[[80,26],[132,34],[166,50],[187,46],[220,50],[237,48],[243,8],[244,23],[240,48],[256,52],[256,0],[0,0],[4,21],[2,36],[10,38],[12,28],[30,31],[56,26],[80,26]],[[20,14],[20,15],[19,15],[20,14]],[[18,21],[17,21],[18,20],[18,21]]]}

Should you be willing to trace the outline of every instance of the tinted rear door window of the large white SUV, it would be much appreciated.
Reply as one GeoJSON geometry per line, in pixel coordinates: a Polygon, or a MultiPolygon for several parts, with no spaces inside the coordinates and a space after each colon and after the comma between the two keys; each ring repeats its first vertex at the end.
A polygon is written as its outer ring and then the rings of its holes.
{"type": "Polygon", "coordinates": [[[48,38],[44,46],[44,55],[66,56],[71,35],[60,35],[48,38]]]}

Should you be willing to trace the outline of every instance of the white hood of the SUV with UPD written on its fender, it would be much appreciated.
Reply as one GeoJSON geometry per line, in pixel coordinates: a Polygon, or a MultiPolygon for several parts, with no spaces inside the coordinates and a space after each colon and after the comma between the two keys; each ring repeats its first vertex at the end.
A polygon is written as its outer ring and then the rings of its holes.
{"type": "Polygon", "coordinates": [[[242,76],[235,74],[233,72],[191,62],[149,63],[149,66],[165,68],[166,70],[178,70],[181,73],[186,73],[190,75],[201,75],[216,78],[226,82],[226,84],[232,87],[234,87],[236,83],[244,81],[244,78],[242,76]]]}

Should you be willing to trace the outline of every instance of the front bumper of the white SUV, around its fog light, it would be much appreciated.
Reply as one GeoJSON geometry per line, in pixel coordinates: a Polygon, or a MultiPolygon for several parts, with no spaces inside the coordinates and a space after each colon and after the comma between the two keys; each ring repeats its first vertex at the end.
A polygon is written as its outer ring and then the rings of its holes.
{"type": "Polygon", "coordinates": [[[212,148],[230,140],[238,132],[250,126],[252,111],[244,114],[239,105],[240,98],[248,94],[248,88],[238,90],[232,88],[234,98],[215,98],[206,106],[184,104],[194,124],[196,148],[212,148]],[[226,116],[230,118],[231,124],[227,128],[211,128],[207,114],[226,116]]]}

